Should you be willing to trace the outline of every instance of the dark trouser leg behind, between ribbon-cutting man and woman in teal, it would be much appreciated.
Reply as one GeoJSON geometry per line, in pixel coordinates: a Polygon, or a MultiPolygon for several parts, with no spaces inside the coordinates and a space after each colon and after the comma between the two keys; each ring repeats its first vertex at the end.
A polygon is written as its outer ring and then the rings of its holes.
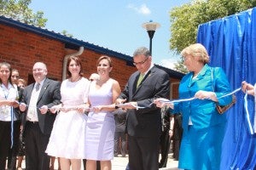
{"type": "Polygon", "coordinates": [[[165,128],[160,136],[160,153],[161,159],[159,163],[159,167],[166,167],[168,153],[170,149],[171,139],[169,135],[169,127],[165,128]]]}

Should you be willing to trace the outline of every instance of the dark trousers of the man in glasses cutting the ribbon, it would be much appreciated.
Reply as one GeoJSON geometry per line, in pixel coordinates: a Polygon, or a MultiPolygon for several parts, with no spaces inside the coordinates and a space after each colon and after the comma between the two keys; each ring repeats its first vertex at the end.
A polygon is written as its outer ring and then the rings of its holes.
{"type": "Polygon", "coordinates": [[[158,170],[159,137],[128,136],[129,167],[131,170],[158,170]]]}

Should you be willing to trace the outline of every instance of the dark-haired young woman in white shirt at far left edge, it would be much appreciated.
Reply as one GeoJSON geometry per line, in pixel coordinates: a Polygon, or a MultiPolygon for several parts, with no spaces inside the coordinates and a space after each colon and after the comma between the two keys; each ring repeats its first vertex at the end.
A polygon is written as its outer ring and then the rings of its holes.
{"type": "Polygon", "coordinates": [[[13,133],[19,132],[14,123],[19,94],[17,86],[11,82],[11,72],[9,63],[0,63],[0,169],[5,169],[9,149],[16,150],[19,141],[19,133],[13,133]]]}

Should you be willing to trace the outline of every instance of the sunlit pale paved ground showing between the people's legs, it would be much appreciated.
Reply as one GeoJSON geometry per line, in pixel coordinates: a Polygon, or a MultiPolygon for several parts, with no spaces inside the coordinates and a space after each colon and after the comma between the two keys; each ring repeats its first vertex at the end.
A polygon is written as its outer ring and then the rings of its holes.
{"type": "MultiPolygon", "coordinates": [[[[125,170],[125,167],[128,163],[128,157],[114,157],[112,161],[112,169],[113,170],[125,170]]],[[[25,169],[25,162],[22,162],[22,168],[25,169]]],[[[55,170],[57,170],[57,160],[55,161],[55,170]]],[[[165,168],[160,168],[160,170],[178,170],[177,161],[172,159],[172,154],[169,154],[169,158],[167,161],[167,166],[165,168]]]]}

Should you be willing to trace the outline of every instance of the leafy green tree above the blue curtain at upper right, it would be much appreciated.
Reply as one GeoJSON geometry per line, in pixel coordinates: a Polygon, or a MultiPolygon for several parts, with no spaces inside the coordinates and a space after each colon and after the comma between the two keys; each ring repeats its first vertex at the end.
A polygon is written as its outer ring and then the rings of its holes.
{"type": "MultiPolygon", "coordinates": [[[[170,48],[179,54],[196,42],[198,26],[256,6],[256,0],[195,0],[172,8],[170,48]]],[[[182,62],[175,67],[182,68],[182,62]]]]}

